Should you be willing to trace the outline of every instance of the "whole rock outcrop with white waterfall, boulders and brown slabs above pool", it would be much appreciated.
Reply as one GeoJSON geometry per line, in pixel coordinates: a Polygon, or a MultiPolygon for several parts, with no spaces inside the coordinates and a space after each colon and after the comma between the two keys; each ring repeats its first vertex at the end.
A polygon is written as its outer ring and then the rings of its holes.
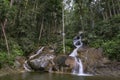
{"type": "Polygon", "coordinates": [[[24,62],[26,71],[48,71],[71,73],[80,76],[100,74],[98,68],[109,62],[102,55],[101,48],[83,46],[82,33],[73,40],[75,49],[70,55],[55,55],[54,49],[42,47],[24,62]],[[87,74],[85,74],[85,73],[87,74]]]}

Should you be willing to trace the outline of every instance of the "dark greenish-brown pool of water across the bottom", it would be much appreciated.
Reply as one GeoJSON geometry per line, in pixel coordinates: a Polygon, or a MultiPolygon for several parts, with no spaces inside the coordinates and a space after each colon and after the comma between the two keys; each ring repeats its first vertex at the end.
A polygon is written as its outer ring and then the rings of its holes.
{"type": "Polygon", "coordinates": [[[0,80],[120,80],[120,76],[76,76],[72,74],[24,72],[1,76],[0,80]]]}

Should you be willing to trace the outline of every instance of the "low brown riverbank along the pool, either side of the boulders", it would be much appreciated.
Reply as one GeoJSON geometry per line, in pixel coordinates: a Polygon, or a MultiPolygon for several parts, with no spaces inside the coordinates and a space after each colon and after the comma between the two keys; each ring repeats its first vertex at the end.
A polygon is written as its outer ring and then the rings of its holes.
{"type": "MultiPolygon", "coordinates": [[[[23,73],[23,72],[25,72],[25,70],[22,67],[16,69],[13,67],[6,66],[0,69],[0,77],[4,75],[23,73]]],[[[52,72],[52,73],[70,74],[65,72],[52,72]]],[[[120,62],[110,62],[103,66],[98,66],[93,72],[90,72],[90,74],[99,75],[99,76],[120,76],[120,62]]]]}

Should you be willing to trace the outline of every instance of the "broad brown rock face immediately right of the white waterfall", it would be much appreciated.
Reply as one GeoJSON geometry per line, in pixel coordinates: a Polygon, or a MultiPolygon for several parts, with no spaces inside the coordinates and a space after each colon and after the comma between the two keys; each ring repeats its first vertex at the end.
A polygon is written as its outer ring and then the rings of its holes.
{"type": "Polygon", "coordinates": [[[83,62],[84,71],[89,73],[95,73],[97,67],[104,66],[109,60],[103,56],[103,50],[101,48],[81,48],[78,50],[78,56],[83,62]]]}

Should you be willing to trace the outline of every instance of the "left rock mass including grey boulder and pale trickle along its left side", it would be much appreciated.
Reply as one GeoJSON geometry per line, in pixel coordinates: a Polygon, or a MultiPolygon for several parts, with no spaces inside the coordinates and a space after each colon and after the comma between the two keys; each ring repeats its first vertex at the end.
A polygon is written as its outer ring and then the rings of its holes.
{"type": "Polygon", "coordinates": [[[46,50],[42,47],[39,49],[36,54],[33,54],[29,57],[28,60],[24,63],[24,68],[26,71],[52,71],[54,66],[53,59],[55,55],[53,54],[54,50],[46,50]]]}

